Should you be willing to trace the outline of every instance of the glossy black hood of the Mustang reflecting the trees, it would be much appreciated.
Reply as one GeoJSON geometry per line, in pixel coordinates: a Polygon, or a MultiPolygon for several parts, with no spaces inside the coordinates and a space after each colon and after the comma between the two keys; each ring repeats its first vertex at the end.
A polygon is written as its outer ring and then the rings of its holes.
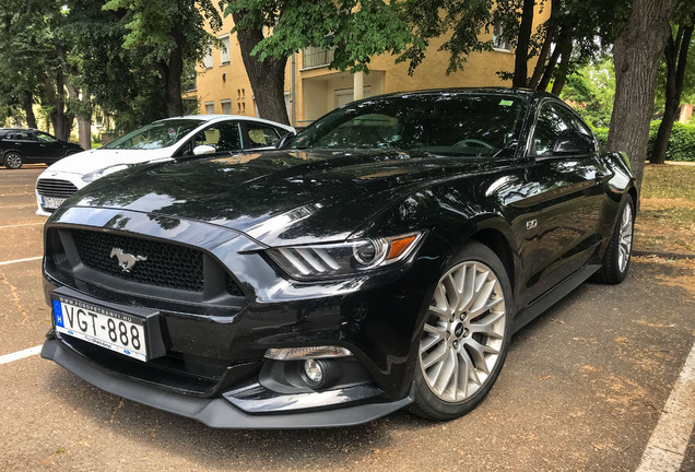
{"type": "Polygon", "coordinates": [[[93,182],[68,205],[144,212],[169,225],[202,221],[269,246],[303,244],[346,238],[416,188],[485,163],[398,151],[236,154],[133,167],[93,182]]]}

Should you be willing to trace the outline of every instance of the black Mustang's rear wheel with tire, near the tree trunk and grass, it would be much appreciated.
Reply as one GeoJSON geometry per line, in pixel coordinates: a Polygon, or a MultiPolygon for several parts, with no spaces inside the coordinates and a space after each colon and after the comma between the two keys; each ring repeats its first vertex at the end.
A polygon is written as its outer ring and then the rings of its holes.
{"type": "Polygon", "coordinates": [[[615,228],[609,240],[603,266],[596,272],[592,280],[605,284],[619,284],[625,280],[633,252],[633,234],[635,231],[635,204],[631,194],[625,197],[615,223],[615,228]]]}

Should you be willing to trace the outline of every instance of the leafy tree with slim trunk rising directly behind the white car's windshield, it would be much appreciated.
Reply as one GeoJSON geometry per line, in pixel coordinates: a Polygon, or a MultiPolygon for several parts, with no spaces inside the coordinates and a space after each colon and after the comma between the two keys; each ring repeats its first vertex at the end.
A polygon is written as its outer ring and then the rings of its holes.
{"type": "Polygon", "coordinates": [[[160,74],[168,116],[184,114],[184,62],[203,57],[211,36],[205,20],[219,30],[222,19],[212,0],[108,0],[105,10],[127,10],[130,20],[122,47],[137,49],[160,74]]]}

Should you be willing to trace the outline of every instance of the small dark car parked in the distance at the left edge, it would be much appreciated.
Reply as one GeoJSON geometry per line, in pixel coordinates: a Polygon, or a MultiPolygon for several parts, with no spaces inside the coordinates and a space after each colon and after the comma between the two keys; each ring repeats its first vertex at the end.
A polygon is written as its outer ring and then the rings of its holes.
{"type": "Polygon", "coordinates": [[[81,151],[84,150],[79,144],[36,129],[0,129],[0,164],[9,169],[17,169],[23,164],[52,164],[81,151]]]}

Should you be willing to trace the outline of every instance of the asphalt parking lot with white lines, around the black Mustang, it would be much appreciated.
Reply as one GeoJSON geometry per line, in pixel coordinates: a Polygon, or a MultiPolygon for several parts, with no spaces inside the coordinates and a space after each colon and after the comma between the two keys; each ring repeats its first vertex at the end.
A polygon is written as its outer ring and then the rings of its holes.
{"type": "Polygon", "coordinates": [[[514,338],[487,399],[457,421],[210,429],[37,355],[43,168],[0,167],[2,471],[695,471],[695,263],[640,257],[622,285],[581,285],[514,338]]]}

